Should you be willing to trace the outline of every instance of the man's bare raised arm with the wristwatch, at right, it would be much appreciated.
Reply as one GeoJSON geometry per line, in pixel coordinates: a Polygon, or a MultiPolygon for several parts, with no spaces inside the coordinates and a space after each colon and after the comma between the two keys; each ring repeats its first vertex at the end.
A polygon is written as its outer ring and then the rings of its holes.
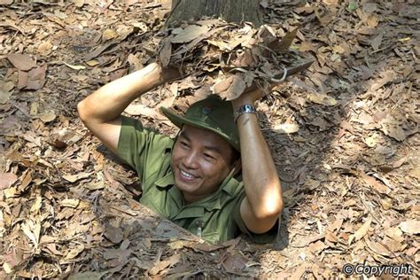
{"type": "MultiPolygon", "coordinates": [[[[233,109],[253,105],[261,97],[259,89],[246,92],[232,100],[233,109]]],[[[237,119],[241,143],[242,177],[246,197],[240,213],[246,227],[254,233],[264,233],[276,223],[283,210],[283,197],[276,166],[262,136],[260,123],[253,113],[237,119]]]]}

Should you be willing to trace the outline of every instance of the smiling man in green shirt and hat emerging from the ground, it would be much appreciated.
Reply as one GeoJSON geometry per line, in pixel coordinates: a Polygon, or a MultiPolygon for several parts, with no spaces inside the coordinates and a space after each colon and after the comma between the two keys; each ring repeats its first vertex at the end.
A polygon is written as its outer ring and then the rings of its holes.
{"type": "Polygon", "coordinates": [[[232,102],[207,97],[183,116],[162,107],[180,128],[175,139],[121,115],[136,97],[177,78],[177,70],[151,64],[97,89],[77,109],[86,127],[136,170],[145,206],[213,243],[241,232],[257,243],[274,241],[283,198],[253,107],[259,90],[232,102]]]}

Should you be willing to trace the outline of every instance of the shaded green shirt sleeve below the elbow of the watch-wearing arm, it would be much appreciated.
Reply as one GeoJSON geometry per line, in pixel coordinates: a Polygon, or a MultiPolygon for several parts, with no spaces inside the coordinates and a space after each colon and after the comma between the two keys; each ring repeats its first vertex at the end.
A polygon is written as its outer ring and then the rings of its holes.
{"type": "Polygon", "coordinates": [[[247,235],[248,237],[251,237],[251,239],[253,239],[253,242],[255,243],[264,244],[264,243],[276,242],[279,229],[280,229],[280,222],[279,222],[280,219],[277,219],[276,224],[267,232],[261,233],[261,234],[253,233],[248,228],[246,228],[245,222],[241,216],[240,208],[241,208],[242,200],[244,198],[245,198],[245,192],[243,192],[240,198],[237,199],[237,204],[235,205],[232,211],[232,219],[234,220],[234,222],[237,223],[237,227],[239,228],[239,230],[242,233],[245,233],[245,235],[247,235]]]}

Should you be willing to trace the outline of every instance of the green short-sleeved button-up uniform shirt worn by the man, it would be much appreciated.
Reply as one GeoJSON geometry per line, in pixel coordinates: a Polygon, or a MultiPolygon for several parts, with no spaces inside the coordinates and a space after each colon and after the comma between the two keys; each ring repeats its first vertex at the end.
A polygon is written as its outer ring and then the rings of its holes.
{"type": "Polygon", "coordinates": [[[274,241],[278,222],[264,234],[254,234],[246,228],[239,211],[245,198],[244,184],[231,175],[218,191],[184,205],[183,194],[175,187],[170,165],[174,143],[168,136],[143,128],[140,121],[122,117],[118,154],[140,177],[142,204],[212,243],[237,237],[241,232],[257,243],[274,241]]]}

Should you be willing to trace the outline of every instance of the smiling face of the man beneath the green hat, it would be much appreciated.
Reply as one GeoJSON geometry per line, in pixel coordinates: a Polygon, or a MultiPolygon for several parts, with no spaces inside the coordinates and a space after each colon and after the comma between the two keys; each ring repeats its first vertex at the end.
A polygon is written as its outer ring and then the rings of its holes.
{"type": "Polygon", "coordinates": [[[172,152],[175,185],[187,203],[216,191],[233,168],[232,148],[212,131],[184,125],[172,152]]]}

